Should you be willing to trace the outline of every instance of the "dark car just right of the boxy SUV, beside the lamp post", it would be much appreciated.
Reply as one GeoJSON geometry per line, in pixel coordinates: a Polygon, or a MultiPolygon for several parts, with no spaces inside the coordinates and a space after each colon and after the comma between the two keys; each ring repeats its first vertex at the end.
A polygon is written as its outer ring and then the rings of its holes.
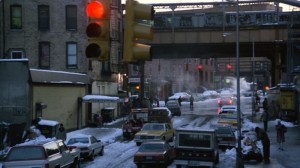
{"type": "Polygon", "coordinates": [[[230,126],[219,126],[216,128],[217,142],[222,150],[235,148],[236,137],[234,129],[230,126]]]}

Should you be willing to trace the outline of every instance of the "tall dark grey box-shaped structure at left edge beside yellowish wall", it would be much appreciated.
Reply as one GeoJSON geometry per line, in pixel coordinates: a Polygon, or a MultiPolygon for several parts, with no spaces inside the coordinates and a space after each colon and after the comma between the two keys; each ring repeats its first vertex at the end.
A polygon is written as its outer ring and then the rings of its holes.
{"type": "Polygon", "coordinates": [[[32,116],[28,59],[0,59],[0,149],[22,143],[32,116]]]}

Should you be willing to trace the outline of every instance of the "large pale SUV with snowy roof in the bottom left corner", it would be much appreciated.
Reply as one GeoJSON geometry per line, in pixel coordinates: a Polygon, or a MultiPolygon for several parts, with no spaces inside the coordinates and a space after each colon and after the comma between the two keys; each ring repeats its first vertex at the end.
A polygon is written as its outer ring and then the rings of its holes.
{"type": "Polygon", "coordinates": [[[3,168],[22,167],[80,167],[80,151],[69,150],[62,140],[24,143],[12,147],[3,168]]]}

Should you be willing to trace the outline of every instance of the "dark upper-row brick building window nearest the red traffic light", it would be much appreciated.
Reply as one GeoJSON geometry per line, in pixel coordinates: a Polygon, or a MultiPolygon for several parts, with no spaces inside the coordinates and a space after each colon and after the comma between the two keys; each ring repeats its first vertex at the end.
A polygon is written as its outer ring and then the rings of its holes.
{"type": "Polygon", "coordinates": [[[77,7],[74,5],[66,6],[66,29],[77,30],[77,7]]]}

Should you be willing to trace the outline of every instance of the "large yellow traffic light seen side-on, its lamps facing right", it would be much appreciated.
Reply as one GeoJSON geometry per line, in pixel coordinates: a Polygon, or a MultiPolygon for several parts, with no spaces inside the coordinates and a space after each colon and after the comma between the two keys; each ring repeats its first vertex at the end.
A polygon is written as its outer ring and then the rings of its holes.
{"type": "Polygon", "coordinates": [[[152,59],[151,46],[137,43],[137,40],[152,40],[152,28],[150,25],[138,22],[152,20],[155,12],[154,8],[151,5],[127,0],[125,10],[124,62],[150,61],[152,59]]]}

